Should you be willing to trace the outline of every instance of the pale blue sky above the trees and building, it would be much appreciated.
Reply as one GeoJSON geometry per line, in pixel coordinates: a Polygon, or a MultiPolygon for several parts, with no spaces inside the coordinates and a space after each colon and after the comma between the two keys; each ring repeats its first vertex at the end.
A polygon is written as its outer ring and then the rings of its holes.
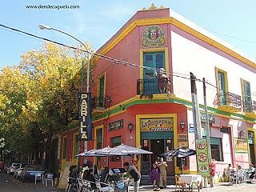
{"type": "MultiPolygon", "coordinates": [[[[2,0],[0,23],[69,45],[77,43],[58,32],[39,30],[38,24],[44,23],[73,34],[82,41],[90,42],[97,50],[137,10],[149,7],[152,2],[148,0],[2,0]],[[79,9],[29,10],[26,9],[28,5],[78,5],[79,9]]],[[[170,7],[171,10],[209,30],[251,58],[256,58],[254,32],[256,1],[158,0],[154,3],[156,6],[170,7]]],[[[0,67],[17,65],[22,53],[38,50],[42,43],[42,40],[0,27],[0,67]]]]}

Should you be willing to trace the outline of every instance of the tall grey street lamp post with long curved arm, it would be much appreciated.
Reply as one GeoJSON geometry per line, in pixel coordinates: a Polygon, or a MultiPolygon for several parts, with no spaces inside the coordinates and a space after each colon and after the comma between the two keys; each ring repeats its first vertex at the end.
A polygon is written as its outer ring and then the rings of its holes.
{"type": "MultiPolygon", "coordinates": [[[[65,31],[62,31],[62,30],[58,30],[58,29],[55,29],[54,27],[51,27],[51,26],[46,26],[46,25],[43,25],[43,24],[39,24],[38,25],[38,28],[40,30],[55,30],[55,31],[58,31],[59,33],[62,33],[62,34],[66,34],[67,36],[69,36],[70,38],[74,38],[77,42],[80,42],[82,44],[82,46],[84,46],[86,48],[86,51],[87,51],[87,77],[86,77],[86,93],[89,94],[89,91],[90,91],[90,86],[89,86],[89,82],[90,82],[90,53],[88,51],[88,48],[86,47],[86,45],[80,41],[78,38],[75,38],[73,35],[71,34],[68,34],[66,33],[65,31]]],[[[84,78],[84,64],[82,62],[82,74],[81,74],[81,92],[83,90],[83,78],[84,78]]],[[[89,101],[90,102],[90,101],[89,101]]],[[[81,137],[81,130],[79,131],[79,135],[81,137]]],[[[80,153],[80,137],[79,137],[79,142],[78,142],[78,152],[80,153]]],[[[84,151],[87,150],[87,141],[84,142],[84,151]]],[[[80,156],[78,157],[78,168],[80,166],[80,156]]]]}

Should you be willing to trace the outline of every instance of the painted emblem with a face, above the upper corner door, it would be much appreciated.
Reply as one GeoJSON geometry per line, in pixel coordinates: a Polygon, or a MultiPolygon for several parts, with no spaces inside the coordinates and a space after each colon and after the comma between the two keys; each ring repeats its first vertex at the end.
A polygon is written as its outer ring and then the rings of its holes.
{"type": "Polygon", "coordinates": [[[142,34],[142,47],[165,46],[166,38],[161,26],[146,27],[142,34]]]}

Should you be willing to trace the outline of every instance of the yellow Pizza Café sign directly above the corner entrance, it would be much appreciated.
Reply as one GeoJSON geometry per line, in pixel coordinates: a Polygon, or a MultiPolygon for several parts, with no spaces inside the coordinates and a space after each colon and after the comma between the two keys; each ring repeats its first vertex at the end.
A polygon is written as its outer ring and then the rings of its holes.
{"type": "Polygon", "coordinates": [[[173,131],[174,118],[141,118],[141,131],[173,131]]]}

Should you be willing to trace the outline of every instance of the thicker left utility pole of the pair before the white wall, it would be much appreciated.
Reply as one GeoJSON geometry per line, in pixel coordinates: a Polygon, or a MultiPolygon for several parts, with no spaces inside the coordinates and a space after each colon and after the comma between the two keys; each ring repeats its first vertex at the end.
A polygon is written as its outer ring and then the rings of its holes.
{"type": "MultiPolygon", "coordinates": [[[[191,84],[191,97],[192,97],[192,110],[194,120],[194,140],[202,139],[202,126],[199,116],[199,105],[198,105],[198,91],[196,86],[196,77],[190,72],[190,84],[191,84]]],[[[196,143],[196,142],[194,142],[196,143]]],[[[195,146],[196,148],[197,146],[195,146]]],[[[207,178],[204,177],[204,187],[207,187],[207,178]]]]}

